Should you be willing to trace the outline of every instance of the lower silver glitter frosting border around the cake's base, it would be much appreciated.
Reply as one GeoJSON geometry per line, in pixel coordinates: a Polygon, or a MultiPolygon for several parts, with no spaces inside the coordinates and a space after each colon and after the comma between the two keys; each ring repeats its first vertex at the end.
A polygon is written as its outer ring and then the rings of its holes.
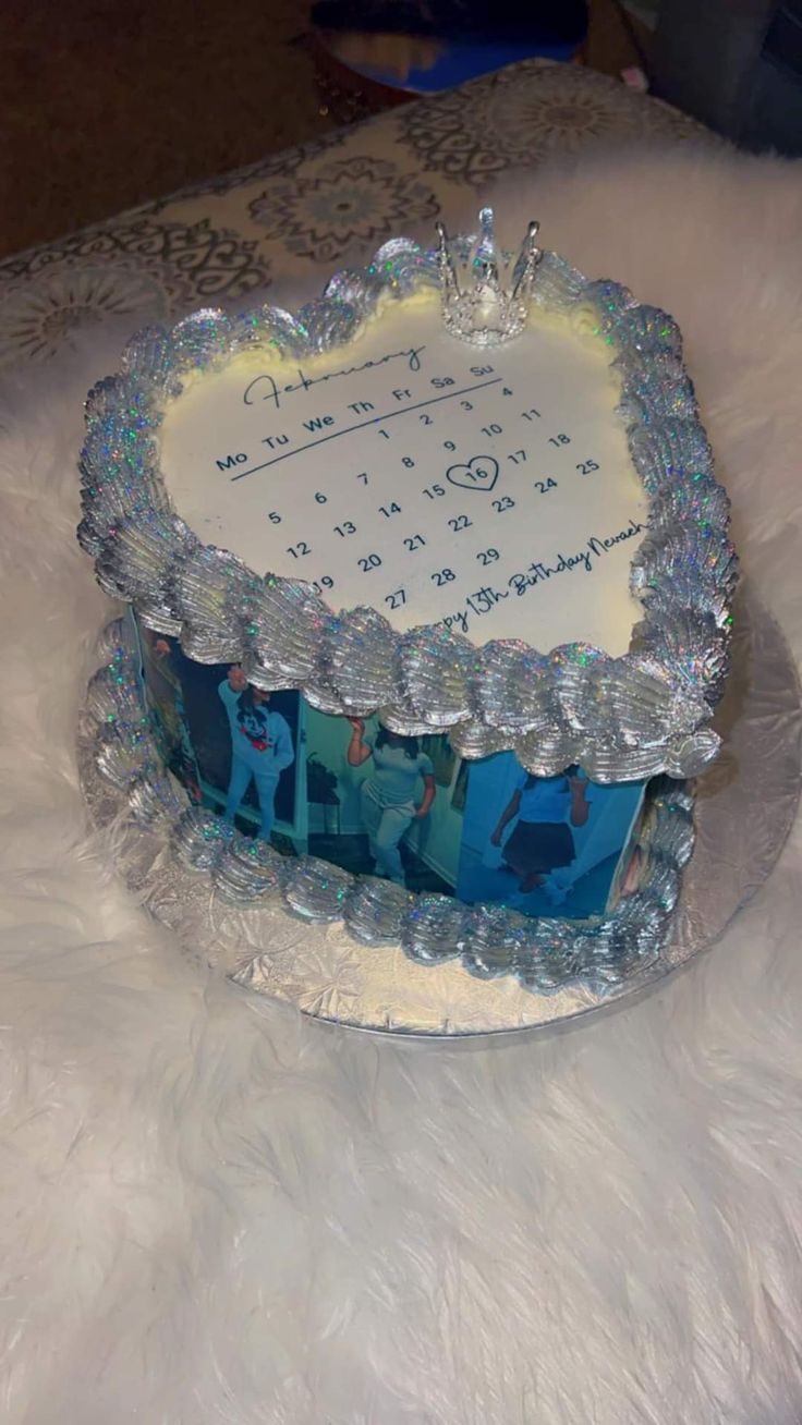
{"type": "Polygon", "coordinates": [[[368,946],[399,945],[422,965],[459,959],[479,978],[511,975],[546,995],[570,983],[623,983],[652,965],[665,942],[694,848],[694,798],[681,782],[650,788],[651,826],[638,889],[595,923],[534,919],[507,906],[469,906],[415,895],[375,876],[353,876],[315,856],[282,856],[192,805],[161,765],[125,620],[105,628],[84,704],[83,747],[121,795],[134,826],[157,829],[188,869],[205,875],[231,905],[281,905],[318,923],[342,922],[368,946]]]}

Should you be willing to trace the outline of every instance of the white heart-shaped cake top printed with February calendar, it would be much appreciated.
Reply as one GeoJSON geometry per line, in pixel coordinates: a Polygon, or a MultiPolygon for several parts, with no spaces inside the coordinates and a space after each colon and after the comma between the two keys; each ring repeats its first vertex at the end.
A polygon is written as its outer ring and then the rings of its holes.
{"type": "Polygon", "coordinates": [[[204,542],[338,611],[618,656],[647,520],[618,395],[605,346],[566,322],[534,311],[477,351],[426,292],[333,351],[197,376],[167,410],[162,470],[204,542]]]}

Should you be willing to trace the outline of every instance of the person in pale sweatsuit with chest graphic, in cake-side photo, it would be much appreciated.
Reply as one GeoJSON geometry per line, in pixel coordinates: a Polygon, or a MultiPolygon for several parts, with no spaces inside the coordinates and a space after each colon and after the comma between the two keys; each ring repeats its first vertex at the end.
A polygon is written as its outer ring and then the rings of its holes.
{"type": "Polygon", "coordinates": [[[239,665],[228,670],[218,685],[231,730],[231,779],[225,819],[234,822],[251,781],[259,798],[259,836],[271,839],[275,795],[285,767],[295,761],[292,735],[281,712],[271,712],[271,694],[248,683],[239,665]]]}

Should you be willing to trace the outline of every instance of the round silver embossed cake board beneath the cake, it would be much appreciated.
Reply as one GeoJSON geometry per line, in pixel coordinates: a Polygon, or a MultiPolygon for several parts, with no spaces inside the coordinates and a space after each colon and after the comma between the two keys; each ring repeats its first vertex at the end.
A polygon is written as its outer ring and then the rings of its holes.
{"type": "Polygon", "coordinates": [[[631,1003],[709,948],[771,874],[802,785],[802,698],[774,617],[748,591],[736,600],[732,674],[715,725],[717,762],[697,781],[697,845],[671,935],[647,969],[610,986],[568,983],[534,993],[511,976],[477,979],[460,962],[420,965],[397,946],[365,946],[342,925],[312,925],[279,906],[239,909],[184,866],[164,834],[130,821],[124,792],[78,740],[84,792],[120,874],[182,952],[248,993],[325,1023],[406,1037],[464,1037],[566,1026],[631,1003]]]}

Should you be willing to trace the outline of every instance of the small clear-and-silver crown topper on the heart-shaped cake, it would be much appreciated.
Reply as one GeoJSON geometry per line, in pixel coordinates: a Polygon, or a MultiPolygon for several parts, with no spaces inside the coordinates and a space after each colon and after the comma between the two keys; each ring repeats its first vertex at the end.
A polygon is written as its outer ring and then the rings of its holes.
{"type": "Polygon", "coordinates": [[[481,208],[479,225],[479,237],[469,239],[467,255],[463,245],[460,261],[454,259],[444,225],[434,224],[440,239],[437,266],[443,325],[452,336],[473,346],[500,346],[520,336],[526,326],[534,272],[543,256],[534,242],[540,224],[528,224],[514,264],[511,255],[500,252],[496,244],[493,208],[481,208]]]}

